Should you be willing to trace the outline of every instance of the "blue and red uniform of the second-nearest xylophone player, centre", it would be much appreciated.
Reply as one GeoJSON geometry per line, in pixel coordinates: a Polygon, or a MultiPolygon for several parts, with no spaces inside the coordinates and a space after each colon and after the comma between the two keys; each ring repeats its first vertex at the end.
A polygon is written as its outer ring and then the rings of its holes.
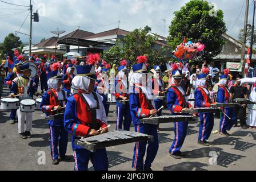
{"type": "MultiPolygon", "coordinates": [[[[141,118],[147,118],[150,116],[150,110],[154,109],[153,100],[147,100],[146,95],[142,93],[142,89],[139,88],[141,85],[136,85],[133,88],[133,93],[130,93],[130,112],[131,118],[133,119],[133,126],[135,131],[138,133],[143,133],[147,135],[154,136],[154,142],[148,142],[147,146],[147,156],[145,160],[146,168],[150,168],[151,164],[154,162],[155,156],[158,151],[158,134],[157,125],[143,124],[139,122],[141,118]]],[[[146,141],[137,142],[134,146],[133,164],[134,169],[143,169],[143,161],[146,152],[146,141]]]]}

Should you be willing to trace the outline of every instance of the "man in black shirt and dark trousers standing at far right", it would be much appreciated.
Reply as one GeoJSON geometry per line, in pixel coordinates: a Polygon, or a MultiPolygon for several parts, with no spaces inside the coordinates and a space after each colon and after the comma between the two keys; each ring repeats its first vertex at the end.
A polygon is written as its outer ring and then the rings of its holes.
{"type": "MultiPolygon", "coordinates": [[[[242,76],[237,77],[237,84],[233,85],[230,89],[230,98],[234,100],[236,98],[247,98],[248,89],[246,86],[241,86],[241,81],[238,81],[242,78],[242,76]]],[[[239,117],[240,124],[242,129],[247,129],[246,127],[246,104],[243,104],[240,108],[235,108],[235,113],[239,117]]],[[[233,127],[237,126],[237,120],[235,121],[233,127]]]]}

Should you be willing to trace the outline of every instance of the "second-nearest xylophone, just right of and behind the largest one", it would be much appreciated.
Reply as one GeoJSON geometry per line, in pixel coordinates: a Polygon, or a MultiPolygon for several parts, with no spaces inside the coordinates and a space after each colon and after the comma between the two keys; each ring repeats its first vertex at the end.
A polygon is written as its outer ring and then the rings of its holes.
{"type": "Polygon", "coordinates": [[[139,119],[143,124],[158,125],[159,123],[173,123],[182,121],[198,121],[197,117],[191,115],[162,115],[159,117],[139,119]]]}

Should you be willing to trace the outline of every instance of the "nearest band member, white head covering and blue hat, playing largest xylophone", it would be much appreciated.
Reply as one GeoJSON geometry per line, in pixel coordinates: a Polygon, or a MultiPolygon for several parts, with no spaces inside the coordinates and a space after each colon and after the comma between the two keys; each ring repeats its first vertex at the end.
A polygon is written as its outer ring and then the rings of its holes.
{"type": "MultiPolygon", "coordinates": [[[[73,78],[75,85],[78,85],[78,93],[67,98],[67,105],[64,114],[64,126],[72,137],[72,148],[75,158],[75,171],[87,171],[91,159],[96,171],[107,171],[109,167],[106,148],[90,152],[75,144],[75,139],[98,135],[99,129],[107,126],[107,117],[102,97],[93,92],[95,80],[94,61],[89,65],[78,66],[77,76],[73,78]]],[[[107,129],[101,130],[106,133],[107,129]]]]}

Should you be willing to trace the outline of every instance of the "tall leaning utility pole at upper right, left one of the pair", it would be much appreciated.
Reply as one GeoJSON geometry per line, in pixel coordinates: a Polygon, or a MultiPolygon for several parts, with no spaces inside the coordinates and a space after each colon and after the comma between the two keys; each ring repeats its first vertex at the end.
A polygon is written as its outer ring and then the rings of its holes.
{"type": "Polygon", "coordinates": [[[249,0],[246,0],[245,6],[245,22],[243,24],[243,45],[241,51],[241,62],[243,61],[242,75],[245,75],[245,46],[246,46],[246,34],[247,34],[247,21],[248,21],[248,11],[249,11],[249,0]]]}

